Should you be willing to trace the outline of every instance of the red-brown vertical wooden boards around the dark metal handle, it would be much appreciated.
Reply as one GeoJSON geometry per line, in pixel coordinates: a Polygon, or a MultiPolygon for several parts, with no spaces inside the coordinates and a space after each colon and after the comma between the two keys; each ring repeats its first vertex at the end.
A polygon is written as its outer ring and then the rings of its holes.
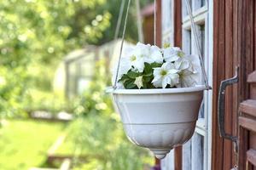
{"type": "Polygon", "coordinates": [[[249,96],[247,75],[255,69],[255,1],[214,0],[212,169],[230,169],[237,163],[233,144],[218,133],[218,88],[240,67],[238,84],[226,91],[225,130],[237,136],[238,105],[249,96]],[[254,46],[254,49],[253,49],[254,46]]]}

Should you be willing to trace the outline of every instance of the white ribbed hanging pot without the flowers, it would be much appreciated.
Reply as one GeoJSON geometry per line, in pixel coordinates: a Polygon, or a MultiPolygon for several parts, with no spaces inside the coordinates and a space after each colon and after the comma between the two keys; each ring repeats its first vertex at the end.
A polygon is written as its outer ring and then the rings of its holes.
{"type": "Polygon", "coordinates": [[[112,93],[127,137],[162,159],[192,137],[205,89],[115,89],[112,93]]]}

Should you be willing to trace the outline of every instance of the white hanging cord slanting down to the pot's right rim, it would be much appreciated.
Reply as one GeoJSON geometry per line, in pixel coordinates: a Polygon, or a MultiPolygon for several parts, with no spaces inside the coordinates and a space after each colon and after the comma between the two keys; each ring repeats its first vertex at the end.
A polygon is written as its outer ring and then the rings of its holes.
{"type": "Polygon", "coordinates": [[[198,55],[199,55],[199,59],[200,59],[201,71],[203,73],[204,82],[205,82],[205,85],[206,85],[207,89],[211,89],[211,87],[209,86],[209,83],[208,83],[208,79],[207,79],[206,67],[205,67],[204,61],[202,59],[201,46],[200,46],[200,43],[199,43],[198,33],[197,33],[197,30],[196,30],[196,27],[195,27],[195,21],[194,21],[193,15],[192,15],[191,5],[189,3],[189,0],[185,0],[185,1],[186,1],[187,10],[188,10],[188,13],[189,13],[189,19],[191,21],[192,32],[193,32],[194,37],[195,37],[195,45],[196,45],[196,48],[198,50],[198,55]]]}

